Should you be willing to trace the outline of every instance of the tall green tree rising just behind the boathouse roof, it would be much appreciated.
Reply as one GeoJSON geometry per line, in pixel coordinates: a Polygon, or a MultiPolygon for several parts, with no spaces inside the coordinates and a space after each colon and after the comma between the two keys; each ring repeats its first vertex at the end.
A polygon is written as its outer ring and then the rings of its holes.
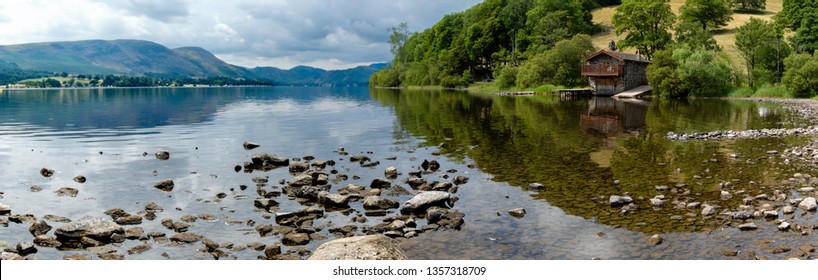
{"type": "Polygon", "coordinates": [[[613,24],[616,35],[627,33],[617,46],[635,47],[651,59],[653,53],[673,42],[667,30],[673,28],[676,16],[667,0],[625,0],[616,8],[613,24]]]}

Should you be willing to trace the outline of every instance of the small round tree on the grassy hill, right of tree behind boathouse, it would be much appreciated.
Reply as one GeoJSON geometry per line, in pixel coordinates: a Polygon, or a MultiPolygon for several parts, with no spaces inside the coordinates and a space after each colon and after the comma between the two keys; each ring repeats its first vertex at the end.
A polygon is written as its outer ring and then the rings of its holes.
{"type": "Polygon", "coordinates": [[[733,10],[724,0],[686,0],[680,11],[682,21],[698,22],[702,30],[727,26],[733,19],[733,10]]]}

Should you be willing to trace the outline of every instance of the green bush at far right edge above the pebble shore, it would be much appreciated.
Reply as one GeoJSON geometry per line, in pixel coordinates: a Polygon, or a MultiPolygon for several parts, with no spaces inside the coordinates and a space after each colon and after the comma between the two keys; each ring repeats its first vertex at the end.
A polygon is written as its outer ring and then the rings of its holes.
{"type": "Polygon", "coordinates": [[[793,97],[811,98],[818,96],[818,57],[808,54],[793,54],[784,60],[787,71],[783,83],[793,97]]]}

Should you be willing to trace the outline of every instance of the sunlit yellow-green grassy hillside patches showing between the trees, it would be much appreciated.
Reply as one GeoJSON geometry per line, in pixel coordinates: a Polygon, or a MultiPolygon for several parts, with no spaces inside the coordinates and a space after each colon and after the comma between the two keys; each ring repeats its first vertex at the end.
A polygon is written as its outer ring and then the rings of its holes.
{"type": "MultiPolygon", "coordinates": [[[[670,0],[670,6],[676,15],[679,15],[679,8],[684,5],[684,0],[670,0]]],[[[611,40],[621,40],[625,37],[624,34],[616,36],[615,28],[612,23],[614,11],[617,6],[605,7],[593,11],[594,23],[601,24],[605,27],[607,32],[599,33],[593,36],[594,46],[597,48],[607,48],[608,42],[611,40]]],[[[734,13],[733,20],[723,30],[719,31],[714,37],[721,48],[733,57],[734,63],[743,64],[743,60],[736,49],[736,28],[744,25],[750,18],[759,18],[771,20],[773,15],[777,14],[783,9],[783,0],[767,0],[767,9],[761,14],[746,14],[734,13]]],[[[633,50],[627,50],[633,51],[633,50]]]]}

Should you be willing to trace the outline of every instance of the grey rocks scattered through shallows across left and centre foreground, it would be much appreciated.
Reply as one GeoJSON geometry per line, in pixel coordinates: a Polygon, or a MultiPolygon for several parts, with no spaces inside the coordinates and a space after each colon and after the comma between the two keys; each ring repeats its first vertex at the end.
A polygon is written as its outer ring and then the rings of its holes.
{"type": "MultiPolygon", "coordinates": [[[[260,145],[245,142],[243,147],[249,151],[260,145]]],[[[219,219],[216,215],[189,213],[178,218],[158,219],[157,216],[162,215],[168,206],[163,207],[156,202],[145,202],[144,209],[140,211],[129,213],[123,208],[113,208],[100,215],[84,216],[77,220],[53,215],[36,217],[17,214],[12,206],[0,204],[0,215],[5,216],[0,218],[2,225],[28,227],[33,237],[30,242],[4,248],[0,259],[29,259],[36,256],[37,247],[47,247],[69,252],[64,259],[92,259],[92,255],[96,255],[99,259],[117,260],[126,259],[125,253],[141,254],[163,246],[192,246],[200,252],[200,256],[206,254],[213,259],[235,259],[231,253],[245,250],[258,251],[259,259],[304,259],[309,256],[312,259],[405,259],[396,246],[399,242],[385,242],[378,238],[413,238],[429,231],[459,230],[464,224],[465,215],[454,205],[458,200],[458,188],[465,185],[469,178],[455,176],[456,170],[443,171],[436,160],[423,160],[416,169],[405,173],[393,166],[386,167],[383,169],[384,176],[373,178],[368,186],[345,184],[350,175],[341,170],[354,172],[355,168],[383,167],[380,161],[370,158],[373,156],[371,153],[350,155],[344,148],[338,148],[335,153],[340,156],[338,161],[318,160],[313,156],[289,158],[259,152],[233,168],[236,173],[259,175],[248,182],[248,185],[255,185],[255,198],[248,197],[246,203],[257,212],[264,213],[263,218],[270,222],[228,220],[225,223],[253,227],[260,237],[274,240],[266,244],[216,242],[208,238],[205,232],[194,232],[197,223],[216,221],[219,219]],[[280,178],[277,184],[270,182],[269,176],[264,174],[276,169],[286,169],[290,177],[280,178]],[[432,176],[444,180],[431,180],[432,176]],[[295,201],[303,208],[282,211],[280,206],[284,200],[295,201]],[[361,213],[356,209],[363,211],[361,213]],[[323,218],[327,212],[340,212],[352,218],[346,225],[317,225],[316,219],[323,218]],[[372,220],[377,223],[371,226],[364,224],[372,220]],[[61,225],[52,226],[50,223],[61,225]],[[164,230],[146,232],[143,226],[155,223],[164,230]],[[303,247],[311,242],[330,239],[334,241],[323,244],[315,252],[303,247]],[[129,240],[139,242],[130,248],[122,248],[124,252],[118,249],[129,240]],[[343,248],[349,245],[334,245],[347,243],[355,244],[352,247],[358,251],[344,253],[343,248]],[[282,247],[291,250],[283,250],[282,247]]],[[[147,156],[147,153],[143,156],[147,156]]],[[[171,154],[158,151],[155,157],[156,160],[166,161],[171,154]]],[[[49,168],[42,168],[40,174],[44,178],[56,176],[55,171],[49,168]]],[[[78,183],[86,180],[84,176],[76,178],[74,181],[78,183]]],[[[154,188],[173,193],[174,186],[173,179],[166,179],[156,183],[154,188]]],[[[248,188],[247,185],[239,187],[242,191],[248,188]]],[[[32,191],[35,191],[33,187],[32,191]]],[[[75,188],[62,188],[56,195],[75,197],[78,192],[75,188]]],[[[226,197],[227,194],[219,193],[216,199],[226,197]]],[[[163,256],[168,258],[167,254],[163,256]]]]}

